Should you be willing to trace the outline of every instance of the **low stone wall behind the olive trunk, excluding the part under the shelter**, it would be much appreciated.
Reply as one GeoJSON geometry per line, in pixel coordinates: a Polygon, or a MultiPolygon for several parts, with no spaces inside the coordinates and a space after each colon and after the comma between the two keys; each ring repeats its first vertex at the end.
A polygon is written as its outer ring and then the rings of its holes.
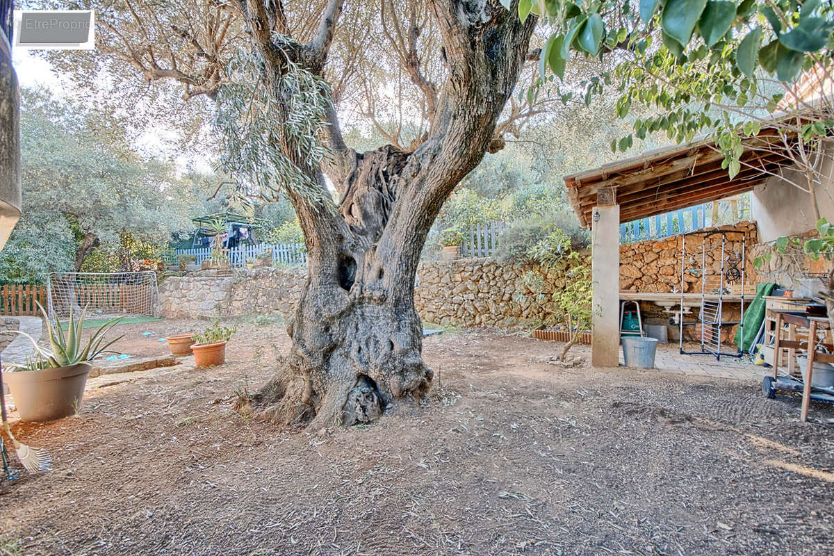
{"type": "MultiPolygon", "coordinates": [[[[514,327],[543,317],[537,302],[565,285],[566,268],[541,273],[534,292],[525,285],[530,265],[501,265],[490,258],[420,263],[414,305],[427,323],[514,327]]],[[[208,270],[168,277],[159,286],[164,318],[236,318],[280,313],[298,303],[306,268],[208,270]]]]}

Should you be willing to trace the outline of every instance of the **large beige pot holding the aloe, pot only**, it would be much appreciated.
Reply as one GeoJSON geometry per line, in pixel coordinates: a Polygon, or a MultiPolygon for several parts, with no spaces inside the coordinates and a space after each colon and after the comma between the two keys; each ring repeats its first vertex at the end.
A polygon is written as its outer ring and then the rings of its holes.
{"type": "Polygon", "coordinates": [[[78,413],[90,372],[88,363],[40,371],[3,373],[3,381],[27,423],[43,423],[78,413]]]}

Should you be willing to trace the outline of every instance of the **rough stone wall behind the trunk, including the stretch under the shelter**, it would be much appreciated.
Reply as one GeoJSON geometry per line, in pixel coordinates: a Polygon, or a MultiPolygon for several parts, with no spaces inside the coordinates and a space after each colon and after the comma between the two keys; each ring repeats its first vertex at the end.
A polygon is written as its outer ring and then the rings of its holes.
{"type": "MultiPolygon", "coordinates": [[[[730,227],[727,227],[730,228],[730,227]]],[[[757,241],[756,224],[741,223],[747,245],[757,241]]],[[[620,247],[620,288],[673,292],[680,284],[680,238],[620,247]]],[[[756,271],[748,258],[749,283],[756,271]]],[[[548,313],[550,293],[565,286],[566,266],[544,271],[533,265],[500,264],[490,258],[426,261],[417,269],[414,305],[426,323],[453,326],[516,327],[538,324],[548,313]],[[535,287],[531,285],[532,275],[535,287]],[[525,278],[527,277],[527,278],[525,278]]],[[[306,268],[209,270],[165,278],[160,285],[163,317],[218,318],[294,312],[306,268]]],[[[686,291],[697,291],[696,278],[686,291]]],[[[644,306],[651,313],[656,306],[644,306]]],[[[659,317],[664,315],[658,314],[659,317]]],[[[665,315],[668,318],[668,315],[665,315]]]]}

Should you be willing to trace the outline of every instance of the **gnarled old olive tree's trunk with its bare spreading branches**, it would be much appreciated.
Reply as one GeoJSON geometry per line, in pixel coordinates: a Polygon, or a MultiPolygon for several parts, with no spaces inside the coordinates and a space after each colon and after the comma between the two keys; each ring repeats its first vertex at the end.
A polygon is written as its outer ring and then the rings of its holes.
{"type": "MultiPolygon", "coordinates": [[[[138,68],[148,80],[173,78],[185,85],[187,95],[216,98],[225,78],[226,29],[243,28],[237,36],[245,36],[249,43],[245,48],[263,59],[262,83],[279,107],[274,129],[281,152],[290,158],[297,154],[297,168],[303,168],[300,171],[310,183],[318,184],[322,196],[330,194],[324,173],[338,190],[338,208],[309,203],[289,192],[304,230],[309,278],[288,326],[291,353],[276,376],[254,395],[264,416],[275,421],[316,426],[367,423],[394,400],[419,398],[430,386],[432,372],[421,357],[422,325],[413,298],[420,252],[455,185],[488,148],[500,147],[490,142],[496,132],[503,133],[496,122],[519,79],[535,18],[521,23],[516,3],[507,10],[499,0],[425,2],[434,19],[432,28],[439,29],[442,38],[442,48],[430,55],[445,64],[443,83],[432,83],[423,71],[425,58],[421,61],[417,52],[420,29],[415,28],[418,18],[413,6],[408,28],[388,28],[384,21],[379,25],[389,33],[396,52],[392,58],[399,60],[426,96],[423,113],[430,122],[428,131],[420,128],[407,148],[388,145],[357,153],[345,146],[336,108],[331,107],[324,137],[331,155],[322,168],[309,168],[304,163],[309,160],[307,153],[300,152],[289,133],[282,135],[290,121],[291,103],[280,83],[292,64],[326,75],[344,0],[322,0],[318,27],[312,30],[314,26],[304,22],[306,42],[289,37],[294,18],[284,13],[288,2],[210,3],[205,7],[208,24],[203,26],[208,31],[189,23],[191,14],[184,14],[175,34],[193,44],[192,58],[203,61],[202,69],[187,68],[183,58],[188,57],[175,56],[170,42],[148,43],[153,33],[135,31],[136,25],[141,31],[149,19],[147,26],[158,34],[170,33],[147,5],[139,13],[153,17],[128,10],[120,19],[116,13],[103,23],[107,36],[97,38],[102,52],[138,68]],[[229,27],[230,18],[239,25],[229,27]],[[168,67],[158,52],[170,53],[168,67]]],[[[308,7],[304,3],[303,8],[308,7]]],[[[354,7],[363,8],[360,3],[354,7]]],[[[408,8],[383,0],[380,17],[385,20],[395,9],[408,8]]],[[[420,17],[423,14],[421,9],[420,17]]],[[[514,109],[510,119],[521,117],[522,111],[514,109]]]]}

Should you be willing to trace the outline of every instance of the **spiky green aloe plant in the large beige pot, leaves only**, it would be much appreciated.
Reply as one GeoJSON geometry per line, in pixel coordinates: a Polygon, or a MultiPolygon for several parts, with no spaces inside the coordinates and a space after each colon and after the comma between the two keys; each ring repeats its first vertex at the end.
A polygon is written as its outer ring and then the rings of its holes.
{"type": "Polygon", "coordinates": [[[108,351],[108,348],[113,345],[113,343],[116,343],[118,340],[124,338],[124,334],[122,334],[118,338],[102,345],[104,342],[104,334],[107,333],[110,328],[113,328],[114,324],[122,320],[123,317],[108,320],[108,322],[98,328],[98,330],[96,330],[90,338],[88,338],[87,343],[84,344],[82,341],[82,332],[84,328],[84,316],[85,313],[87,313],[86,307],[81,312],[81,316],[78,317],[78,320],[75,319],[73,309],[70,308],[66,334],[64,333],[57,316],[55,317],[54,322],[50,322],[46,311],[43,310],[40,303],[38,303],[38,309],[40,309],[41,314],[43,314],[43,319],[47,323],[50,348],[39,346],[35,339],[27,333],[18,333],[29,338],[29,341],[32,342],[35,351],[45,358],[52,367],[69,367],[71,365],[77,365],[78,363],[87,363],[102,353],[115,353],[108,351]]]}

